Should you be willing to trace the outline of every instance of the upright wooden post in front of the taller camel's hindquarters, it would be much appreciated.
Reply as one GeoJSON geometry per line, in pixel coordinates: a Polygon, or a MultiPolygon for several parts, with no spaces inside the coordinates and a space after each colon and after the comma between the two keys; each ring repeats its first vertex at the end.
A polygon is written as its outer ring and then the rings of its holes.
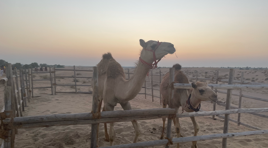
{"type": "MultiPolygon", "coordinates": [[[[92,111],[93,113],[98,112],[98,67],[94,66],[93,67],[93,76],[92,76],[92,88],[93,88],[93,98],[92,98],[92,111]]],[[[91,124],[91,143],[90,147],[95,148],[98,145],[98,139],[97,139],[97,128],[98,124],[91,124]]]]}

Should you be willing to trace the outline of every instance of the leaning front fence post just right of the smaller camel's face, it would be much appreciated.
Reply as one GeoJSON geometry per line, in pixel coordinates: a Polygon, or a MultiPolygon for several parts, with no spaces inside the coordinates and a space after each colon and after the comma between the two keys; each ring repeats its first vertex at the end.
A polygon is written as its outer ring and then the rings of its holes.
{"type": "MultiPolygon", "coordinates": [[[[233,84],[234,75],[235,75],[234,69],[230,69],[230,71],[229,71],[229,81],[228,81],[228,84],[233,84]]],[[[230,107],[231,107],[231,101],[232,101],[232,89],[228,89],[227,90],[225,110],[229,110],[230,109],[230,107]]],[[[230,119],[230,114],[225,114],[223,133],[228,133],[229,119],[230,119]]],[[[222,148],[226,148],[226,147],[227,147],[227,138],[222,138],[222,148]]]]}

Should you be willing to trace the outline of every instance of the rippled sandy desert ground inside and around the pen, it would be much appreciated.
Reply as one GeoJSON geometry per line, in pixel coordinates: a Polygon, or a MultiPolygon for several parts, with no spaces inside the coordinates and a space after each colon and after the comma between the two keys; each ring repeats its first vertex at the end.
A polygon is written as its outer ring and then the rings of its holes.
{"type": "MultiPolygon", "coordinates": [[[[72,66],[66,66],[65,69],[72,69],[72,66]]],[[[76,69],[91,69],[90,67],[77,66],[76,69]]],[[[128,68],[124,68],[125,70],[128,68]]],[[[153,70],[154,74],[166,73],[169,71],[168,68],[159,68],[153,70]]],[[[216,71],[220,70],[219,75],[222,78],[228,79],[229,69],[224,68],[182,68],[182,71],[189,76],[195,77],[195,71],[199,71],[199,77],[212,78],[215,77],[216,71]]],[[[130,68],[130,72],[134,69],[130,68]]],[[[127,70],[125,71],[127,72],[127,70]]],[[[241,76],[240,72],[245,72],[245,79],[248,81],[254,80],[255,82],[268,83],[265,80],[267,70],[239,70],[235,69],[236,79],[241,76]],[[253,79],[254,78],[254,79],[253,79]]],[[[92,76],[92,72],[77,72],[79,76],[92,76]]],[[[56,71],[57,76],[73,76],[72,71],[56,71]]],[[[35,74],[34,79],[43,79],[49,74],[35,74]]],[[[126,75],[127,77],[127,75],[126,75]]],[[[147,78],[148,79],[148,78],[147,78]]],[[[159,76],[154,76],[153,80],[159,81],[159,76]]],[[[91,79],[80,78],[77,84],[90,84],[91,79]]],[[[195,82],[195,80],[189,80],[195,82]]],[[[207,83],[213,84],[215,82],[206,81],[207,83]]],[[[73,78],[57,79],[57,84],[74,84],[73,78]]],[[[34,87],[50,86],[49,81],[35,81],[34,87]]],[[[150,82],[146,83],[147,87],[151,87],[150,82]]],[[[153,83],[154,88],[159,88],[159,83],[153,83]]],[[[0,86],[0,106],[3,106],[3,92],[4,87],[0,86]]],[[[78,91],[89,91],[91,87],[77,87],[78,91]]],[[[70,86],[57,86],[57,91],[75,91],[74,87],[70,86]]],[[[151,93],[151,90],[146,90],[147,93],[151,93]]],[[[224,90],[223,90],[224,91],[224,90]]],[[[225,90],[226,91],[226,90],[225,90]]],[[[142,89],[141,92],[144,92],[142,89]]],[[[234,92],[238,93],[237,90],[234,92]]],[[[34,90],[34,96],[42,95],[41,97],[32,98],[31,102],[28,103],[23,116],[34,116],[34,115],[46,115],[46,114],[70,114],[70,113],[83,113],[91,112],[92,108],[92,95],[91,94],[60,94],[49,95],[51,90],[37,89],[34,90]]],[[[154,94],[159,96],[159,91],[154,91],[154,94]]],[[[254,97],[267,99],[268,90],[245,90],[243,94],[251,95],[254,97]]],[[[218,94],[219,100],[225,101],[226,94],[218,94]]],[[[147,95],[146,99],[144,95],[137,95],[133,100],[130,101],[132,109],[150,109],[150,108],[162,108],[160,105],[160,99],[152,98],[147,95]]],[[[232,104],[238,105],[238,97],[232,96],[232,104]]],[[[264,108],[267,107],[267,102],[257,101],[253,99],[243,98],[242,108],[264,108]]],[[[225,107],[217,106],[217,110],[223,110],[225,107]]],[[[122,110],[120,105],[117,105],[115,110],[122,110]]],[[[210,111],[213,109],[211,103],[202,102],[201,109],[210,111]]],[[[263,113],[267,114],[267,113],[263,113]]],[[[237,114],[232,114],[231,118],[237,120],[237,114]]],[[[224,121],[217,118],[212,120],[211,116],[196,117],[198,124],[200,125],[200,131],[198,135],[209,135],[219,134],[223,132],[224,121]]],[[[144,120],[138,121],[142,126],[142,134],[138,138],[138,142],[158,140],[162,130],[162,119],[144,120]]],[[[241,122],[259,127],[261,129],[268,129],[268,119],[254,116],[251,114],[241,114],[241,122]]],[[[167,123],[167,122],[166,122],[167,123]]],[[[183,136],[193,136],[193,124],[190,118],[181,118],[181,134],[183,136]]],[[[131,122],[120,122],[115,123],[114,128],[116,131],[116,139],[114,144],[126,144],[131,143],[134,138],[134,128],[131,122]]],[[[109,129],[109,125],[108,125],[109,129]]],[[[244,126],[237,126],[235,123],[230,122],[229,132],[243,132],[243,131],[254,131],[254,129],[247,128],[244,126]]],[[[174,125],[172,125],[172,137],[176,137],[174,125]]],[[[91,125],[70,125],[70,126],[55,126],[49,128],[29,128],[29,129],[18,129],[16,135],[15,147],[17,148],[63,148],[63,147],[90,147],[91,137],[91,125]]],[[[0,140],[2,143],[2,140],[0,140]]],[[[222,139],[198,141],[200,148],[216,148],[221,147],[222,139]]],[[[259,148],[268,147],[268,135],[258,136],[246,136],[241,138],[228,138],[228,147],[243,147],[243,148],[259,148]]],[[[103,124],[100,124],[99,131],[99,146],[109,146],[109,142],[104,141],[104,128],[103,124]]],[[[164,146],[159,146],[164,147],[164,146]]],[[[176,147],[173,145],[171,147],[176,147]]],[[[181,147],[191,147],[191,142],[181,143],[181,147]]]]}

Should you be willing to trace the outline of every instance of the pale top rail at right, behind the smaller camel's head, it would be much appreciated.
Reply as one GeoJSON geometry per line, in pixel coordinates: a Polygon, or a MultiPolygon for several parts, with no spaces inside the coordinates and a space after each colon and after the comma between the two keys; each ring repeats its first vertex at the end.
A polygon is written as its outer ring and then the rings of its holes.
{"type": "MultiPolygon", "coordinates": [[[[268,84],[252,85],[252,84],[207,84],[212,89],[262,89],[268,88],[268,84]]],[[[174,83],[176,89],[191,89],[191,84],[174,83]]]]}

